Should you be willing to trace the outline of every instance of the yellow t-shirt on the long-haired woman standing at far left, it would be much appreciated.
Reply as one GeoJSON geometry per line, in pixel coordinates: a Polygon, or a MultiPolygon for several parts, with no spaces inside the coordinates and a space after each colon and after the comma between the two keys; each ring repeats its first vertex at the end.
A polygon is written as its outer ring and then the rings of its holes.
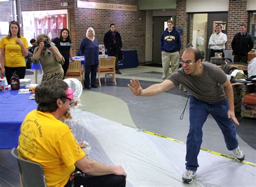
{"type": "MultiPolygon", "coordinates": [[[[8,39],[3,37],[0,41],[0,48],[5,49],[4,66],[7,67],[25,67],[25,57],[22,54],[21,45],[16,42],[17,38],[8,39]]],[[[29,48],[26,38],[21,36],[25,48],[29,48]]]]}

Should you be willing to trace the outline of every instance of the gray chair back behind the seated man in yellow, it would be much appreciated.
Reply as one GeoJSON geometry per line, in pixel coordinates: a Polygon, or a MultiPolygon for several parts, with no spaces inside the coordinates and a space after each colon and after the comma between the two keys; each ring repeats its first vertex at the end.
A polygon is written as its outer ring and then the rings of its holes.
{"type": "Polygon", "coordinates": [[[19,157],[19,151],[16,148],[11,150],[12,156],[18,161],[19,174],[21,177],[22,186],[25,187],[46,187],[44,170],[38,163],[27,161],[19,157]]]}

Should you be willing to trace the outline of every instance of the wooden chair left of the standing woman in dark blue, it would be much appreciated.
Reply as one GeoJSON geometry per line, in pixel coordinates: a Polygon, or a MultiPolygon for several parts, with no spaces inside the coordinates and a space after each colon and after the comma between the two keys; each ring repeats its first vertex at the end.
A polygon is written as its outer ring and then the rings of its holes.
{"type": "Polygon", "coordinates": [[[73,63],[69,63],[68,71],[65,78],[78,78],[82,85],[84,84],[84,70],[81,68],[81,61],[75,60],[73,63]]]}

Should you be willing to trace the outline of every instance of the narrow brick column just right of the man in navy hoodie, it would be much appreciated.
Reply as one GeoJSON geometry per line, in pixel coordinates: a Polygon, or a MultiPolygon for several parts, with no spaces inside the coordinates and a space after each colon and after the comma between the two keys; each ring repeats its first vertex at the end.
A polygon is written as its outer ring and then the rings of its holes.
{"type": "Polygon", "coordinates": [[[186,0],[176,1],[176,27],[181,27],[183,35],[181,35],[181,50],[180,57],[187,46],[187,13],[186,13],[186,0]]]}

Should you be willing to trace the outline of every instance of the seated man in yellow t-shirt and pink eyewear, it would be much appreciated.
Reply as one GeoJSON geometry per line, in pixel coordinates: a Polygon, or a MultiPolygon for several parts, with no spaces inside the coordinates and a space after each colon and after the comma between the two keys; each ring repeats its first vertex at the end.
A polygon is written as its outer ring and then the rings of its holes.
{"type": "MultiPolygon", "coordinates": [[[[126,173],[121,166],[87,158],[82,143],[77,143],[69,126],[59,121],[73,101],[73,91],[66,82],[43,82],[35,89],[35,99],[38,107],[22,123],[18,150],[26,160],[42,165],[48,186],[71,186],[75,167],[86,173],[79,186],[125,186],[126,173]]],[[[74,180],[76,183],[76,177],[74,180]]]]}

